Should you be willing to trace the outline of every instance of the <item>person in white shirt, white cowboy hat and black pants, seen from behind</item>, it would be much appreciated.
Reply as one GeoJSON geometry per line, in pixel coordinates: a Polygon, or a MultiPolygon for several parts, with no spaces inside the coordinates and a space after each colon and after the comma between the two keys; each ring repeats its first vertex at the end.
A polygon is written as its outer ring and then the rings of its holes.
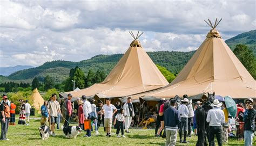
{"type": "Polygon", "coordinates": [[[214,135],[217,137],[218,145],[222,145],[222,125],[225,123],[225,116],[218,99],[214,99],[211,106],[213,107],[208,111],[206,121],[209,123],[209,145],[214,145],[214,135]]]}

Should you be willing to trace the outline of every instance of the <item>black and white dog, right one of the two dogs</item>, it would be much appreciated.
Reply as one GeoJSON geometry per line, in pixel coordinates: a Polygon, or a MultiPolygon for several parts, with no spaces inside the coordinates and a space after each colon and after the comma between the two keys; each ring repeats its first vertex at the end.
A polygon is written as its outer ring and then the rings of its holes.
{"type": "Polygon", "coordinates": [[[76,138],[77,135],[82,132],[82,129],[79,126],[68,126],[61,127],[63,129],[63,133],[67,138],[76,138]]]}

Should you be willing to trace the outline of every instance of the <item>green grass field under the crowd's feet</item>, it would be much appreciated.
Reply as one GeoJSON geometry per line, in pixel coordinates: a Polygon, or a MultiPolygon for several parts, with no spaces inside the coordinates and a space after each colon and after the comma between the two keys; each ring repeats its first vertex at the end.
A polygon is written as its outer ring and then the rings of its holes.
{"type": "MultiPolygon", "coordinates": [[[[0,141],[0,145],[165,145],[164,138],[154,137],[154,129],[131,129],[130,134],[125,134],[126,138],[117,138],[116,135],[113,135],[116,129],[112,129],[112,137],[106,137],[103,127],[99,128],[99,136],[93,136],[95,133],[92,132],[90,138],[85,138],[83,137],[85,132],[82,132],[76,139],[69,139],[64,137],[62,130],[56,130],[55,137],[51,136],[48,140],[43,141],[38,132],[39,125],[39,120],[31,120],[29,126],[9,126],[7,137],[10,141],[0,141]]],[[[196,145],[197,137],[192,136],[187,138],[187,141],[190,143],[177,143],[177,145],[196,145]]],[[[224,145],[243,144],[242,141],[229,139],[228,144],[224,145]]]]}

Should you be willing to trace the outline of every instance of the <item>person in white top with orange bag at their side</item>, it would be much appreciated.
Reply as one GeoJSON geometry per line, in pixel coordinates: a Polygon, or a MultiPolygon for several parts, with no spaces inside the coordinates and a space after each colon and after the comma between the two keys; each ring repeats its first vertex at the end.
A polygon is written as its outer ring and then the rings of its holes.
{"type": "MultiPolygon", "coordinates": [[[[82,98],[84,100],[84,118],[87,121],[91,119],[92,106],[91,103],[87,101],[86,96],[83,96],[82,98]]],[[[86,129],[86,135],[84,135],[84,137],[91,137],[91,129],[86,129]]]]}

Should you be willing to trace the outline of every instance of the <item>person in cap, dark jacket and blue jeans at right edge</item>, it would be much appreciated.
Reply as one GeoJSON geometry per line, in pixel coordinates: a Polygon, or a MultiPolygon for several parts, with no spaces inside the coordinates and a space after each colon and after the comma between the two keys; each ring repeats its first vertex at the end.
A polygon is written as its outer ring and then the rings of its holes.
{"type": "Polygon", "coordinates": [[[245,99],[246,110],[244,113],[244,118],[242,119],[245,122],[244,125],[244,135],[245,135],[245,146],[252,145],[252,140],[254,137],[255,131],[255,116],[256,111],[253,108],[253,99],[247,98],[245,99]]]}

